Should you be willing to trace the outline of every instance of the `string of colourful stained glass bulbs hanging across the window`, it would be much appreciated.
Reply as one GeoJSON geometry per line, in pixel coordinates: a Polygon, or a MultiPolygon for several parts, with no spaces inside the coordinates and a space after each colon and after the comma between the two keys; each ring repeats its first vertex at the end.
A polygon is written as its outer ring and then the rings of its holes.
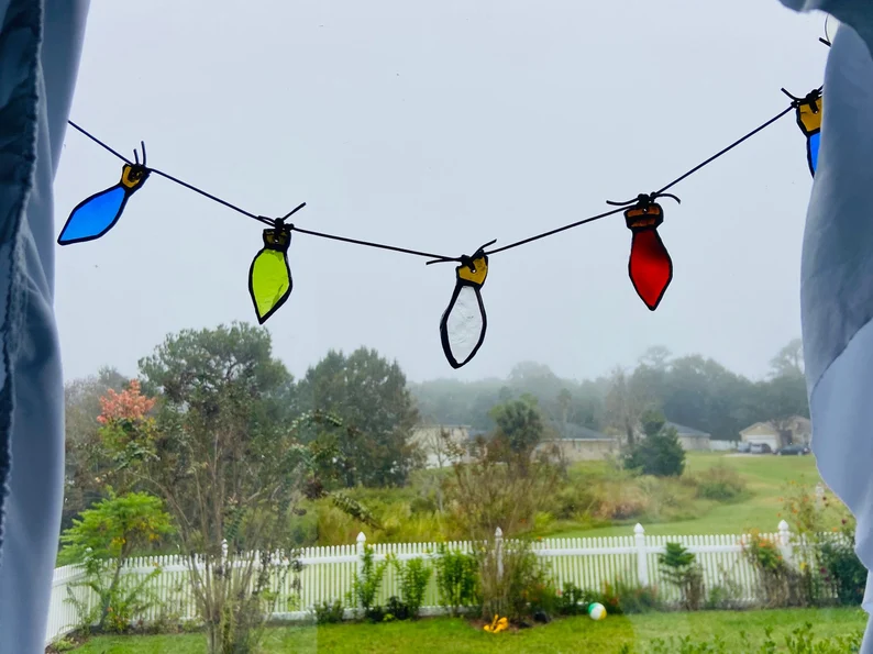
{"type": "MultiPolygon", "coordinates": [[[[830,45],[829,40],[822,38],[820,41],[826,45],[830,45]]],[[[745,133],[727,147],[723,147],[709,158],[688,169],[661,189],[649,193],[640,193],[636,198],[623,202],[607,200],[607,203],[616,207],[616,209],[589,215],[545,232],[540,232],[508,245],[488,250],[496,243],[496,241],[491,241],[476,250],[472,255],[461,256],[444,256],[386,243],[328,234],[286,222],[295,213],[306,207],[306,202],[297,206],[281,218],[267,218],[246,211],[178,177],[169,175],[158,168],[147,166],[145,143],[141,142],[142,162],[140,162],[141,153],[136,149],[134,149],[134,160],[131,162],[87,130],[69,121],[73,128],[121,159],[123,166],[121,179],[117,185],[86,198],[73,209],[60,231],[57,242],[59,245],[71,245],[74,243],[85,243],[100,239],[115,226],[131,196],[143,187],[151,175],[157,175],[168,179],[228,209],[267,225],[263,231],[263,246],[255,255],[248,269],[248,292],[252,298],[252,303],[254,304],[255,315],[261,324],[278,311],[291,295],[294,285],[291,280],[291,269],[288,263],[288,250],[294,232],[353,245],[419,256],[429,259],[427,262],[428,265],[455,262],[458,264],[455,268],[455,288],[449,307],[445,309],[440,320],[440,341],[449,364],[453,368],[460,368],[466,365],[476,355],[485,341],[487,314],[482,299],[482,288],[488,276],[488,257],[623,212],[625,223],[632,234],[630,257],[628,259],[628,275],[637,295],[651,311],[654,311],[664,298],[664,293],[673,279],[673,261],[657,232],[657,228],[664,222],[664,210],[657,200],[661,198],[671,198],[679,202],[676,196],[667,192],[671,188],[732,151],[755,134],[759,134],[791,112],[795,113],[797,125],[800,128],[800,132],[806,138],[807,164],[810,174],[815,176],[818,165],[821,115],[824,110],[822,87],[813,89],[804,97],[793,96],[785,89],[782,89],[782,91],[791,98],[788,107],[745,133]]]]}

